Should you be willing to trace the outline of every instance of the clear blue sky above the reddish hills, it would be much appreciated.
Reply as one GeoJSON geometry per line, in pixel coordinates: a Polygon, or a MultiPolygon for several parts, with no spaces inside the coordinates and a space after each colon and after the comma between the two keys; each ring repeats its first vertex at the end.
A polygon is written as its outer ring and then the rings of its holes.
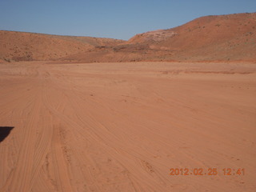
{"type": "Polygon", "coordinates": [[[129,39],[210,14],[255,12],[256,0],[0,0],[0,30],[129,39]]]}

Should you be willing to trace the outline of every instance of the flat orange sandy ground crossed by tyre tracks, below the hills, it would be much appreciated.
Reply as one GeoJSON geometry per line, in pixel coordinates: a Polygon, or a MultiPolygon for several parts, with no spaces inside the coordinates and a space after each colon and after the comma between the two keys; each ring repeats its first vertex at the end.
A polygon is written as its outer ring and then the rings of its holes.
{"type": "Polygon", "coordinates": [[[255,63],[2,63],[5,127],[1,192],[256,191],[255,63]]]}

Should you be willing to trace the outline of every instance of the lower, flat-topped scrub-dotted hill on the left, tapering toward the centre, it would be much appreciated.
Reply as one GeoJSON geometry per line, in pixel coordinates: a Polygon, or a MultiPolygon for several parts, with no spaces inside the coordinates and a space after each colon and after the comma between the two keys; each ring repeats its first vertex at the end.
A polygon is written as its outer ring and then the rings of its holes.
{"type": "Polygon", "coordinates": [[[0,30],[0,42],[0,61],[44,61],[83,53],[96,46],[115,46],[124,41],[0,30]]]}

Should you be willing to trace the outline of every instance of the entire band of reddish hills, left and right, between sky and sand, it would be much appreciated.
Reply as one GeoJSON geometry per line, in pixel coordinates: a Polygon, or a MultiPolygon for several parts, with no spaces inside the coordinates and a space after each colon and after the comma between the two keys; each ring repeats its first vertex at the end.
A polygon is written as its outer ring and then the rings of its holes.
{"type": "Polygon", "coordinates": [[[256,13],[210,15],[129,41],[0,31],[2,60],[256,61],[256,13]]]}

